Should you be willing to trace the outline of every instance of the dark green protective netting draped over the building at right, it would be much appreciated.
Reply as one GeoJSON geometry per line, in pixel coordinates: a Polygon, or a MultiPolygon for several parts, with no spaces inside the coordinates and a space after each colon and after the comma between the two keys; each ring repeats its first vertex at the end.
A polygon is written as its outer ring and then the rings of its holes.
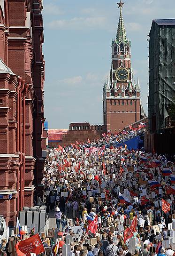
{"type": "Polygon", "coordinates": [[[150,127],[156,116],[156,132],[164,128],[169,104],[175,104],[175,25],[152,22],[149,43],[149,97],[150,127]]]}

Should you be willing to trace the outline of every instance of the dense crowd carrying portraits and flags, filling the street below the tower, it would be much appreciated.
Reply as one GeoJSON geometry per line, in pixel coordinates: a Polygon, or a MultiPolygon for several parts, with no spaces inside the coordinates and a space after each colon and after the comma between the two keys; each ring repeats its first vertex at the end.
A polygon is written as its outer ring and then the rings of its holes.
{"type": "Polygon", "coordinates": [[[113,140],[48,150],[46,208],[55,211],[67,255],[173,256],[174,163],[156,153],[107,148],[113,140]]]}

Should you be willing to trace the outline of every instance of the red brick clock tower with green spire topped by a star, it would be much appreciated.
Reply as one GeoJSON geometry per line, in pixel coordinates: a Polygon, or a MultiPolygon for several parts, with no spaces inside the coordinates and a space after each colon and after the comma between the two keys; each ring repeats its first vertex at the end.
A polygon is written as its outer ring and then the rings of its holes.
{"type": "Polygon", "coordinates": [[[112,134],[122,131],[141,119],[140,85],[133,80],[131,68],[131,41],[126,37],[122,17],[122,5],[117,34],[112,40],[112,63],[110,80],[103,88],[103,119],[106,131],[112,134]]]}

